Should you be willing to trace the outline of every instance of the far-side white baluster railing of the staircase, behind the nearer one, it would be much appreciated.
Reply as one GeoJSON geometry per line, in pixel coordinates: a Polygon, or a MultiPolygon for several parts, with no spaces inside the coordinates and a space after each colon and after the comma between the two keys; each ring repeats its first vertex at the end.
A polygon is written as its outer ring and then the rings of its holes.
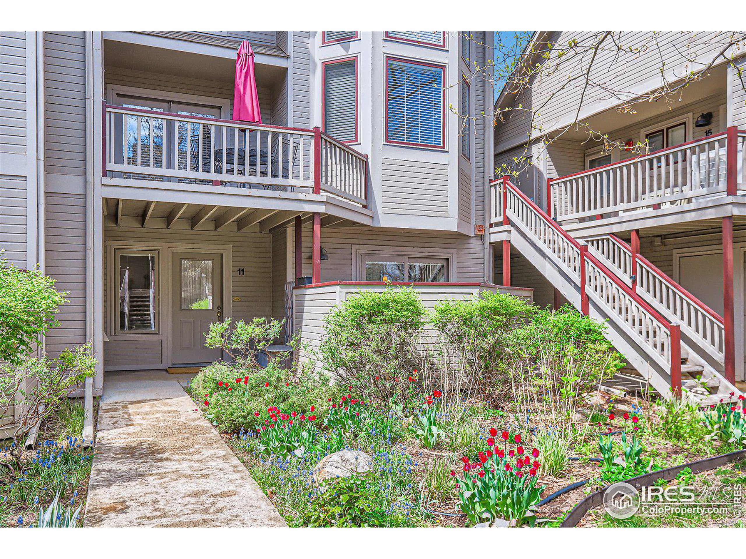
{"type": "Polygon", "coordinates": [[[718,362],[724,363],[723,318],[613,235],[588,240],[598,259],[718,362]],[[634,277],[633,277],[634,276],[634,277]]]}

